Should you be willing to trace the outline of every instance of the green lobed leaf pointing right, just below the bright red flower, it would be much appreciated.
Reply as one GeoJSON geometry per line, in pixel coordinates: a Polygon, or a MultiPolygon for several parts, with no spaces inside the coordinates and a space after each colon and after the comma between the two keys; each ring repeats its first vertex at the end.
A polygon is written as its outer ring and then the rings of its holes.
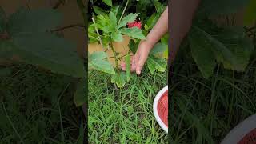
{"type": "Polygon", "coordinates": [[[142,30],[138,27],[133,28],[123,28],[120,30],[122,34],[126,34],[131,38],[145,39],[145,36],[142,34],[142,30]]]}

